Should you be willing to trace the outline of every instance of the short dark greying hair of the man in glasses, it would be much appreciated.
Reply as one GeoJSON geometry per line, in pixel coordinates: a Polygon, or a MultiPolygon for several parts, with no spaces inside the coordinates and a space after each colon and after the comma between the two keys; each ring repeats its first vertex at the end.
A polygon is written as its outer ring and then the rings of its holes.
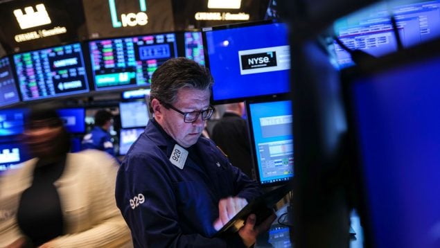
{"type": "Polygon", "coordinates": [[[176,57],[161,64],[151,78],[149,107],[153,112],[151,100],[157,99],[161,103],[173,105],[177,100],[179,89],[200,89],[211,91],[214,83],[209,69],[187,59],[176,57]]]}

